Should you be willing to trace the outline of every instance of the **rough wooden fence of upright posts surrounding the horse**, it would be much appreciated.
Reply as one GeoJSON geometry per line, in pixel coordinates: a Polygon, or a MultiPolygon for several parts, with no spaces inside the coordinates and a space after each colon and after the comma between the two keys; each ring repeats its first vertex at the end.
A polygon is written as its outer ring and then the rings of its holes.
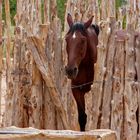
{"type": "MultiPolygon", "coordinates": [[[[41,1],[17,0],[12,62],[8,2],[5,0],[4,126],[79,130],[76,103],[64,74],[65,40],[56,0],[44,0],[43,15],[41,1]]],[[[2,0],[0,10],[1,7],[2,0]]],[[[74,21],[85,21],[94,15],[93,23],[100,26],[94,83],[85,96],[86,130],[109,128],[116,131],[118,140],[139,139],[140,0],[128,0],[127,6],[119,10],[115,0],[68,0],[66,15],[68,12],[74,21]]],[[[67,30],[65,20],[64,34],[67,30]]],[[[0,83],[2,51],[0,47],[0,83]]]]}

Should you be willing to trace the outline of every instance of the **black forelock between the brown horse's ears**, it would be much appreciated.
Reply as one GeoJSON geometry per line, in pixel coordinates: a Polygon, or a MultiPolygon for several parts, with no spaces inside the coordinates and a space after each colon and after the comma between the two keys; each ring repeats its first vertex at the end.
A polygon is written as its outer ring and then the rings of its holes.
{"type": "Polygon", "coordinates": [[[74,33],[75,31],[80,31],[82,35],[86,36],[86,28],[84,27],[84,24],[81,22],[74,23],[71,27],[68,33],[74,33]]]}

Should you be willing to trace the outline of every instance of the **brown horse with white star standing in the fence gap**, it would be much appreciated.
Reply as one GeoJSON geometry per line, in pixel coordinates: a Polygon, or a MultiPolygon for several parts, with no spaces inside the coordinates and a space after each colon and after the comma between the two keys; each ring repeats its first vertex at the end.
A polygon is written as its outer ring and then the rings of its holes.
{"type": "Polygon", "coordinates": [[[68,62],[65,72],[71,80],[81,131],[85,131],[87,122],[84,95],[90,91],[93,84],[94,64],[97,61],[99,26],[92,24],[92,20],[93,16],[87,22],[73,22],[71,14],[67,15],[69,31],[65,40],[68,62]]]}

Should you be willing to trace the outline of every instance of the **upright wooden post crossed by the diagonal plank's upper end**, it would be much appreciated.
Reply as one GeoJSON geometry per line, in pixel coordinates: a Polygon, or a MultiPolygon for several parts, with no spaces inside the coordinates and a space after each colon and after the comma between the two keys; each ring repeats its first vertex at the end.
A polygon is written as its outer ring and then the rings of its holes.
{"type": "MultiPolygon", "coordinates": [[[[34,24],[32,28],[33,33],[36,33],[36,29],[38,29],[39,25],[42,23],[41,20],[41,1],[36,0],[32,1],[31,5],[33,6],[35,18],[32,21],[34,24]]],[[[30,103],[32,108],[32,113],[29,117],[29,126],[33,126],[35,128],[43,128],[43,79],[39,69],[37,68],[34,60],[32,59],[32,86],[31,86],[31,97],[30,103]]]]}

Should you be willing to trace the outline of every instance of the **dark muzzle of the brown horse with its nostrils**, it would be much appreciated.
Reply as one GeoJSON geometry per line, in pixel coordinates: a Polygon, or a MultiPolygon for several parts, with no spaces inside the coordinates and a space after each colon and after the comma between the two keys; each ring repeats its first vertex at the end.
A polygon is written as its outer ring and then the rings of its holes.
{"type": "Polygon", "coordinates": [[[78,68],[77,67],[65,67],[66,75],[69,79],[75,79],[78,74],[78,68]]]}

